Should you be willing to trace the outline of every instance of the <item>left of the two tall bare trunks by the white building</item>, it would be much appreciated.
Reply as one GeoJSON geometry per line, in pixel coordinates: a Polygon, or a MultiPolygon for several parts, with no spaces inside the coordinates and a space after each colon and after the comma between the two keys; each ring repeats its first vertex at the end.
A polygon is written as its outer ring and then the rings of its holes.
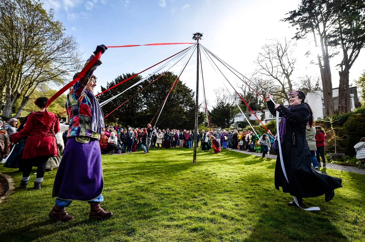
{"type": "Polygon", "coordinates": [[[319,60],[319,66],[323,86],[324,117],[327,117],[328,115],[333,115],[335,113],[332,97],[331,69],[328,57],[323,58],[323,66],[319,60]]]}

